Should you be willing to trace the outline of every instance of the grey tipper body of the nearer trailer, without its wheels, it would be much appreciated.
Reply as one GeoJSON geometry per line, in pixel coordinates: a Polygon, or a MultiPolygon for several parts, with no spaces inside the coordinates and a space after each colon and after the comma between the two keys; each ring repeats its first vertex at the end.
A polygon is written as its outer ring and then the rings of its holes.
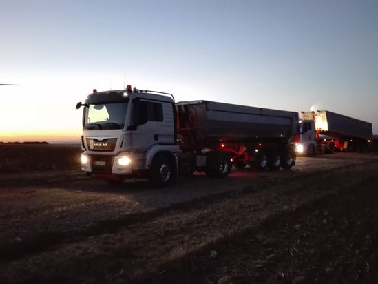
{"type": "Polygon", "coordinates": [[[297,133],[297,112],[255,108],[214,101],[176,104],[178,133],[196,148],[213,141],[288,140],[297,133]]]}

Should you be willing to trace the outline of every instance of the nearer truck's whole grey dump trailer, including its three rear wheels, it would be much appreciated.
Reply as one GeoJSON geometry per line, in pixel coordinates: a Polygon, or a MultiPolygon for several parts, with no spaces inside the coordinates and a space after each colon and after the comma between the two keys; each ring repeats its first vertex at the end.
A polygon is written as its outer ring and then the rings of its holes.
{"type": "Polygon", "coordinates": [[[178,138],[183,151],[206,148],[227,152],[236,168],[291,168],[298,114],[213,101],[176,103],[178,138]]]}

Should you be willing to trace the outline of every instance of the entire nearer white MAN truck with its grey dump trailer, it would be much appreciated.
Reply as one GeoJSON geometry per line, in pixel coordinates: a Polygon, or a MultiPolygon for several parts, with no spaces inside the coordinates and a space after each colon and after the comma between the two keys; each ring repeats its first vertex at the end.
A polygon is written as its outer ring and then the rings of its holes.
{"type": "Polygon", "coordinates": [[[97,92],[83,110],[82,170],[109,183],[147,178],[157,187],[194,171],[222,178],[232,165],[260,170],[295,165],[297,112],[213,101],[175,103],[171,94],[97,92]]]}

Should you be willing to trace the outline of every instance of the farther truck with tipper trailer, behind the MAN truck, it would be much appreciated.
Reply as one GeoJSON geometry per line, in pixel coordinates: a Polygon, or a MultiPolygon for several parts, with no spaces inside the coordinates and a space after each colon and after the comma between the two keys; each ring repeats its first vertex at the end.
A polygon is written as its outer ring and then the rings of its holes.
{"type": "Polygon", "coordinates": [[[328,110],[302,112],[300,134],[293,141],[297,154],[366,152],[372,142],[372,125],[328,110]]]}

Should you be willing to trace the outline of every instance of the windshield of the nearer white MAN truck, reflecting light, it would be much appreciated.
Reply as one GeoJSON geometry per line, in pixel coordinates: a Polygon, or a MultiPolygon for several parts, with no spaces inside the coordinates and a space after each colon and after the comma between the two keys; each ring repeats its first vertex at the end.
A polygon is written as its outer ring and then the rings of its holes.
{"type": "Polygon", "coordinates": [[[84,128],[121,129],[125,125],[127,102],[96,103],[85,108],[84,128]]]}

